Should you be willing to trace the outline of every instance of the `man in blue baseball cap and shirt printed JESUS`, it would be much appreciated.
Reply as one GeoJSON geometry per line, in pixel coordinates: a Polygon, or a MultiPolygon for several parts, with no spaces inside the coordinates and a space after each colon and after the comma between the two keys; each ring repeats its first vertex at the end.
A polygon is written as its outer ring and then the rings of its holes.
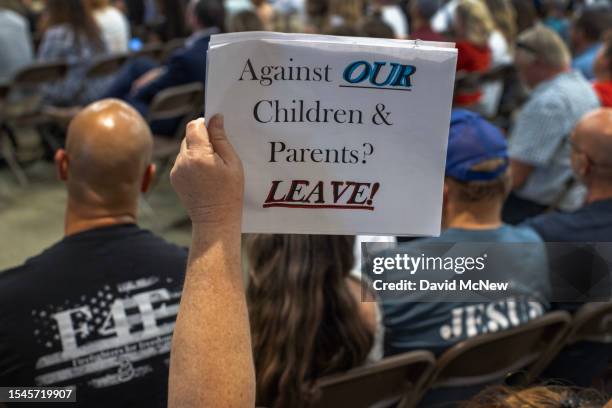
{"type": "MultiPolygon", "coordinates": [[[[448,298],[447,293],[432,297],[422,290],[402,292],[401,296],[378,292],[386,327],[387,355],[417,349],[439,355],[459,341],[519,326],[548,309],[550,285],[542,240],[529,228],[507,225],[501,220],[502,205],[510,190],[509,173],[506,141],[501,131],[476,113],[454,110],[444,182],[443,232],[439,238],[400,244],[394,252],[428,256],[428,248],[435,246],[432,244],[441,247],[440,243],[486,243],[485,247],[489,248],[495,243],[512,243],[502,248],[503,267],[486,269],[486,279],[511,281],[515,289],[508,297],[504,293],[489,301],[482,298],[474,301],[469,294],[464,300],[448,298]]],[[[472,244],[463,248],[469,245],[472,244]]],[[[461,246],[442,247],[445,255],[469,255],[461,246]]],[[[382,255],[385,253],[391,256],[391,251],[384,251],[382,255]]],[[[421,274],[418,279],[442,282],[446,278],[458,279],[453,273],[442,278],[437,278],[432,271],[423,270],[418,274],[421,274]]],[[[387,282],[410,279],[399,270],[381,276],[387,282]]],[[[460,279],[463,278],[469,279],[470,272],[465,272],[460,279]]]]}

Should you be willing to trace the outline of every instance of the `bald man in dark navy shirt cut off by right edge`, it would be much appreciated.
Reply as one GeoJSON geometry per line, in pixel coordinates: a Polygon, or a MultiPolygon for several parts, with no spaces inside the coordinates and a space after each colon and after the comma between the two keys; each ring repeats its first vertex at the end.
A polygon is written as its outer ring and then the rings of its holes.
{"type": "Polygon", "coordinates": [[[585,205],[527,221],[548,242],[612,241],[612,108],[587,113],[570,138],[574,174],[587,187],[585,205]]]}

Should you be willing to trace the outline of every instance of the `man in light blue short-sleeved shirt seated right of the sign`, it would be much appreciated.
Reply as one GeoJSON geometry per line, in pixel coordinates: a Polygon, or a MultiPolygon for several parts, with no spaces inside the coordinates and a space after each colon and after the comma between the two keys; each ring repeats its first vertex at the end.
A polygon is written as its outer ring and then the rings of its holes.
{"type": "Polygon", "coordinates": [[[512,194],[503,218],[518,224],[549,208],[573,211],[584,188],[572,175],[569,135],[576,122],[599,107],[591,85],[570,68],[570,53],[552,30],[537,26],[517,41],[515,63],[532,89],[509,139],[512,194]]]}

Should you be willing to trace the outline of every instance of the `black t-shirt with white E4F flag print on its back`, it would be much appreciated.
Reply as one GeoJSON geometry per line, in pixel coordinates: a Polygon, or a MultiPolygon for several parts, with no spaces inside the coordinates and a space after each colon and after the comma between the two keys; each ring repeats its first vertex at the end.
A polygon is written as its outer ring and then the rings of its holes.
{"type": "Polygon", "coordinates": [[[125,224],[0,273],[0,386],[76,385],[70,407],[165,407],[186,262],[125,224]]]}

